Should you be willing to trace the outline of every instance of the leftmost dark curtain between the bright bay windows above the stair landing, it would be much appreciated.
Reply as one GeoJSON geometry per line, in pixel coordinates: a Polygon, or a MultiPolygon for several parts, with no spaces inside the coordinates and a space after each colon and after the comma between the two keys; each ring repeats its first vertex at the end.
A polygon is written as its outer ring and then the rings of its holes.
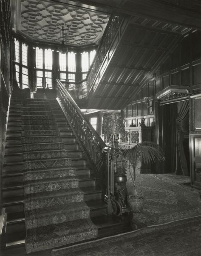
{"type": "Polygon", "coordinates": [[[31,92],[36,91],[36,50],[28,46],[28,87],[31,92]]]}

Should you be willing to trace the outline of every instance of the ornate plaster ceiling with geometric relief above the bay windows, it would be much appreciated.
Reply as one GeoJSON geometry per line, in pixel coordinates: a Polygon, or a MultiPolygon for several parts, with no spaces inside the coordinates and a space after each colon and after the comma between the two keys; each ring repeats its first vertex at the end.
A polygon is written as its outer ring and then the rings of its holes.
{"type": "Polygon", "coordinates": [[[20,24],[18,23],[17,30],[33,41],[61,43],[61,28],[64,26],[65,43],[83,46],[99,40],[108,20],[108,15],[74,6],[21,0],[20,24]]]}

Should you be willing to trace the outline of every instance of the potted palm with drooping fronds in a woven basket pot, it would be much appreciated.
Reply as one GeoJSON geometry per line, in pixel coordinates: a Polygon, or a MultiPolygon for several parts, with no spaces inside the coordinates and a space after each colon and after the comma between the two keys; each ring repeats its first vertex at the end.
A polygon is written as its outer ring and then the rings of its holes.
{"type": "Polygon", "coordinates": [[[130,176],[133,181],[133,194],[128,195],[127,202],[133,212],[140,212],[144,206],[144,196],[138,195],[136,191],[136,168],[141,164],[142,160],[144,160],[144,163],[154,163],[156,160],[160,162],[164,161],[164,154],[158,144],[144,141],[135,145],[133,148],[123,150],[122,157],[129,160],[133,167],[133,175],[129,168],[130,176]]]}

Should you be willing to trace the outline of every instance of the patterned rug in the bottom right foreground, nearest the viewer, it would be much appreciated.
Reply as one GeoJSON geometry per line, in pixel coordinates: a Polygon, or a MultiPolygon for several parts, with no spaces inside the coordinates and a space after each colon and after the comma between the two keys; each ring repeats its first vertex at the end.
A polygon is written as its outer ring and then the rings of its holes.
{"type": "Polygon", "coordinates": [[[51,256],[200,256],[201,217],[52,250],[51,256]]]}

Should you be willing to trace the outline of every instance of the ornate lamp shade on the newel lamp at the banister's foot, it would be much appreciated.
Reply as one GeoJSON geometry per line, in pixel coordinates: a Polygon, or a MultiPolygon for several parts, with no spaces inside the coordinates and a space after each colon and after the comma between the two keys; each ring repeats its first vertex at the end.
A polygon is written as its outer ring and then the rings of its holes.
{"type": "Polygon", "coordinates": [[[105,113],[102,122],[102,134],[118,134],[125,132],[121,113],[105,113]]]}

